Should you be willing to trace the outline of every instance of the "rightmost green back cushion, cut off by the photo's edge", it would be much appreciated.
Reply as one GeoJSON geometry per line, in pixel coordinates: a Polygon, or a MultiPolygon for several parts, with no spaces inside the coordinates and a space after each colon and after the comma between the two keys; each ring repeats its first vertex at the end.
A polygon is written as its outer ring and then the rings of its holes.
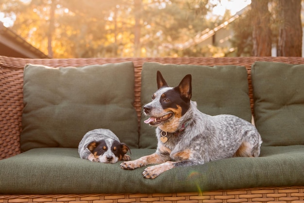
{"type": "Polygon", "coordinates": [[[255,62],[255,125],[264,146],[304,145],[304,65],[255,62]]]}

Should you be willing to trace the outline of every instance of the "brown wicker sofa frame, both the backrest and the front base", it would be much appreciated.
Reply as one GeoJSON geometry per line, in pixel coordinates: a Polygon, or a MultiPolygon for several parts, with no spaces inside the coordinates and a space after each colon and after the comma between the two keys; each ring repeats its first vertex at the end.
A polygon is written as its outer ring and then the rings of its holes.
{"type": "MultiPolygon", "coordinates": [[[[141,115],[140,85],[144,62],[193,65],[240,65],[248,70],[249,93],[253,108],[251,66],[254,61],[277,61],[302,64],[301,57],[200,57],[200,58],[73,58],[24,59],[0,56],[0,160],[20,153],[21,113],[23,109],[23,68],[25,64],[43,64],[51,67],[84,66],[92,64],[133,61],[135,65],[135,108],[138,120],[141,115]]],[[[239,203],[239,202],[304,202],[304,186],[250,188],[241,190],[210,191],[174,194],[83,194],[83,195],[0,195],[0,203],[239,203]]]]}

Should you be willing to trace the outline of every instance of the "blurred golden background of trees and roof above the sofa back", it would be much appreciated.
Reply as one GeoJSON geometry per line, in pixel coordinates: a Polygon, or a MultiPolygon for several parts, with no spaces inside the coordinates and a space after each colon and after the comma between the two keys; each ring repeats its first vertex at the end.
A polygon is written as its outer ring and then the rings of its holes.
{"type": "Polygon", "coordinates": [[[0,55],[303,56],[302,3],[0,0],[0,55]]]}

